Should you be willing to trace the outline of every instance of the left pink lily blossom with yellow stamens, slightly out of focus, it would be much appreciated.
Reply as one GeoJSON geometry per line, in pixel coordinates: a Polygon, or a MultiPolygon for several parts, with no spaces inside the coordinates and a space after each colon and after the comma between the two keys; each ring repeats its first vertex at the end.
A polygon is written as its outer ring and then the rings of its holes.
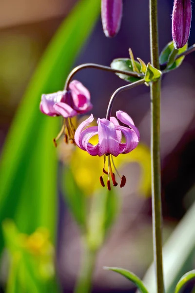
{"type": "Polygon", "coordinates": [[[92,109],[90,101],[90,92],[80,82],[74,80],[69,84],[68,90],[58,91],[52,94],[43,94],[41,96],[40,111],[48,116],[62,116],[64,118],[62,128],[56,141],[64,134],[66,143],[74,142],[75,129],[71,118],[78,114],[84,114],[92,109]]]}

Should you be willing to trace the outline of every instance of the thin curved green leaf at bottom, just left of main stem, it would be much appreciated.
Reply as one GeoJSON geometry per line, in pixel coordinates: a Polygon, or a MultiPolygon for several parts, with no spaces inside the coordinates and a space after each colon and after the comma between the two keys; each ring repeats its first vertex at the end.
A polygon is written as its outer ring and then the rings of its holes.
{"type": "Polygon", "coordinates": [[[137,288],[140,290],[141,293],[148,293],[148,290],[144,286],[143,282],[135,275],[133,272],[129,272],[125,269],[115,268],[115,267],[104,267],[104,270],[110,270],[113,272],[118,272],[128,280],[132,281],[137,288]]]}

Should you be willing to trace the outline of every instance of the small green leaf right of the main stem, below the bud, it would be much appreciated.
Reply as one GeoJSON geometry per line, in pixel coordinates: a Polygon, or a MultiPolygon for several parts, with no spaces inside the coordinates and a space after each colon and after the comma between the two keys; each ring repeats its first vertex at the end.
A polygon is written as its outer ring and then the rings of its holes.
{"type": "Polygon", "coordinates": [[[177,55],[179,55],[179,54],[183,53],[184,51],[186,51],[187,48],[188,48],[188,44],[186,44],[182,48],[178,49],[177,54],[176,54],[176,52],[174,51],[174,43],[173,42],[169,42],[164,47],[164,49],[162,50],[162,52],[160,53],[160,56],[159,56],[159,63],[160,64],[168,63],[168,66],[167,66],[165,72],[168,72],[170,70],[176,69],[177,67],[179,67],[181,65],[181,63],[183,62],[185,56],[180,57],[175,62],[173,62],[174,55],[175,55],[175,58],[176,58],[177,55]]]}

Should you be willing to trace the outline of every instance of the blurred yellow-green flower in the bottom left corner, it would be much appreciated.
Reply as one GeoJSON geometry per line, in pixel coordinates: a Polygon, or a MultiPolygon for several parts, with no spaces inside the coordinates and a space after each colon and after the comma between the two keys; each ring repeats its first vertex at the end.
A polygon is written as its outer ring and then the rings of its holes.
{"type": "MultiPolygon", "coordinates": [[[[23,267],[27,271],[31,268],[34,272],[32,278],[33,276],[41,280],[53,278],[55,253],[49,231],[39,227],[30,235],[20,233],[12,220],[5,220],[2,226],[11,264],[16,261],[17,256],[17,267],[23,267]]],[[[30,271],[29,273],[31,274],[30,271]]],[[[19,273],[18,277],[22,279],[23,273],[19,273]]]]}

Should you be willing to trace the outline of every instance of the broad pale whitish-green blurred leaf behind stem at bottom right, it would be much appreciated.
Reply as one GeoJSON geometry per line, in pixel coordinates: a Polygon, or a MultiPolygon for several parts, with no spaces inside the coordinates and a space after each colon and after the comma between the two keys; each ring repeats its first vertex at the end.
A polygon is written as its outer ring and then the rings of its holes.
{"type": "MultiPolygon", "coordinates": [[[[195,194],[195,188],[190,193],[195,194]]],[[[195,203],[179,222],[163,247],[163,271],[166,293],[173,293],[182,274],[192,265],[195,251],[195,203]]],[[[151,265],[144,277],[150,293],[156,293],[154,266],[151,265]]]]}

